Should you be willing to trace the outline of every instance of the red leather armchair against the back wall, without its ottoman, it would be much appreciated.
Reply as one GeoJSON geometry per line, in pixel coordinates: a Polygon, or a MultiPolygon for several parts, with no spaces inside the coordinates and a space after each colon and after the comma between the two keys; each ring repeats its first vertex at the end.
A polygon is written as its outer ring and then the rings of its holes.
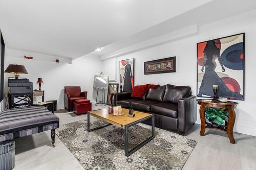
{"type": "Polygon", "coordinates": [[[76,99],[87,99],[87,91],[81,92],[80,86],[65,86],[64,105],[65,109],[73,110],[76,99]]]}

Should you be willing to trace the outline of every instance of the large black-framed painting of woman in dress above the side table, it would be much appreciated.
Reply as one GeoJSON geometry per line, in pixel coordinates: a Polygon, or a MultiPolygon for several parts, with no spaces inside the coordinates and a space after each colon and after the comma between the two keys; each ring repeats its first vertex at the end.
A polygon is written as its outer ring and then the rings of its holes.
{"type": "Polygon", "coordinates": [[[197,96],[244,100],[245,33],[197,43],[197,96]]]}

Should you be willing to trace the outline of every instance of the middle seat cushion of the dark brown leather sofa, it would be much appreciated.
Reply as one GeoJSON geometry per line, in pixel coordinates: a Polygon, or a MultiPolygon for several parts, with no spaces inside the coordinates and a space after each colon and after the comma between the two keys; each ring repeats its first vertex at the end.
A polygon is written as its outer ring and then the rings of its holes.
{"type": "Polygon", "coordinates": [[[150,108],[152,105],[159,104],[158,101],[152,101],[152,100],[142,100],[142,101],[135,101],[131,102],[131,108],[150,112],[150,108]]]}

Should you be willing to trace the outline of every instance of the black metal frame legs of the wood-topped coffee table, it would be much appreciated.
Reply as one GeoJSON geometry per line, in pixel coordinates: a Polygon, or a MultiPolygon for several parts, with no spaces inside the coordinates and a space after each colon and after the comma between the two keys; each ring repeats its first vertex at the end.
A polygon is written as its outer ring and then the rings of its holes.
{"type": "MultiPolygon", "coordinates": [[[[98,118],[98,117],[97,117],[98,118]]],[[[103,120],[104,121],[104,120],[103,120]]],[[[103,125],[103,126],[99,126],[93,129],[90,129],[90,112],[87,113],[87,131],[91,132],[100,128],[104,128],[106,126],[110,126],[112,124],[107,124],[107,125],[103,125]]],[[[129,157],[130,155],[132,155],[134,152],[136,152],[138,149],[140,149],[141,147],[143,147],[146,143],[148,143],[149,141],[151,141],[154,137],[155,137],[155,115],[149,115],[145,118],[139,119],[136,122],[130,123],[128,125],[125,126],[121,126],[121,128],[124,129],[124,152],[125,152],[125,156],[129,157]],[[138,123],[141,123],[147,119],[151,119],[151,136],[146,138],[145,140],[143,140],[142,142],[140,142],[139,144],[137,144],[134,148],[132,148],[129,151],[129,133],[128,133],[128,129],[138,123]]]]}

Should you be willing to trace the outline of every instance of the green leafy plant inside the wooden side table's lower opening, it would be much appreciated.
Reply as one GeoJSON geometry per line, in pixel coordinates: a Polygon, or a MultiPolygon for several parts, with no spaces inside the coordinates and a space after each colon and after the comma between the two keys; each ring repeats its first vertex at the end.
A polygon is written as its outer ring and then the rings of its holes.
{"type": "Polygon", "coordinates": [[[218,109],[212,107],[205,108],[205,117],[212,124],[223,125],[224,121],[228,121],[229,113],[226,109],[218,109]]]}

